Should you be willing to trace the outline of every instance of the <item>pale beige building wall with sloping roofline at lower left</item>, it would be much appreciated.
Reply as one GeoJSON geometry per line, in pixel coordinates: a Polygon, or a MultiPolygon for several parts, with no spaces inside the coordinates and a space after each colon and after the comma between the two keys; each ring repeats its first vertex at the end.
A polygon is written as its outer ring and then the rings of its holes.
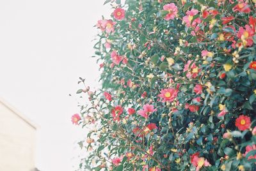
{"type": "Polygon", "coordinates": [[[0,101],[0,170],[30,171],[35,168],[36,128],[0,101]]]}

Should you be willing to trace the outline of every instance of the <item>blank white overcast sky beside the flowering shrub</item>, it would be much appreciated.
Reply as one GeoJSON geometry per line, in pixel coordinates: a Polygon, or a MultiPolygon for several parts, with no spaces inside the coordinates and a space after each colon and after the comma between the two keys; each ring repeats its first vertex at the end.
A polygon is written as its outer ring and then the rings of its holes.
{"type": "MultiPolygon", "coordinates": [[[[0,0],[0,96],[40,126],[36,167],[70,171],[85,130],[73,126],[79,112],[79,77],[97,86],[93,27],[109,16],[104,0],[0,0]]],[[[15,161],[14,161],[15,163],[15,161]]]]}

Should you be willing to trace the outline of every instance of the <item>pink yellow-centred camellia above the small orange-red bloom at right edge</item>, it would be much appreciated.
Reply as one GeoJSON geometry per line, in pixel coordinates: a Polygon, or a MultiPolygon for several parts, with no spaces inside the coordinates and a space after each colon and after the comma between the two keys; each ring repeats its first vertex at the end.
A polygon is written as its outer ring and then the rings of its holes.
{"type": "Polygon", "coordinates": [[[252,27],[249,25],[245,25],[244,28],[239,27],[237,37],[242,40],[242,43],[245,47],[251,47],[253,45],[252,37],[255,34],[255,31],[253,31],[252,27]]]}

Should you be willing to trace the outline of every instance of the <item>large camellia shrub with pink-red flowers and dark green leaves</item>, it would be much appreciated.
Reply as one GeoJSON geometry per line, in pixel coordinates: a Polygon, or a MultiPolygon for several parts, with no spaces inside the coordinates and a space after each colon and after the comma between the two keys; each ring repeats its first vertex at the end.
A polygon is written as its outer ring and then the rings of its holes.
{"type": "Polygon", "coordinates": [[[106,1],[81,168],[255,170],[255,0],[106,1]]]}

